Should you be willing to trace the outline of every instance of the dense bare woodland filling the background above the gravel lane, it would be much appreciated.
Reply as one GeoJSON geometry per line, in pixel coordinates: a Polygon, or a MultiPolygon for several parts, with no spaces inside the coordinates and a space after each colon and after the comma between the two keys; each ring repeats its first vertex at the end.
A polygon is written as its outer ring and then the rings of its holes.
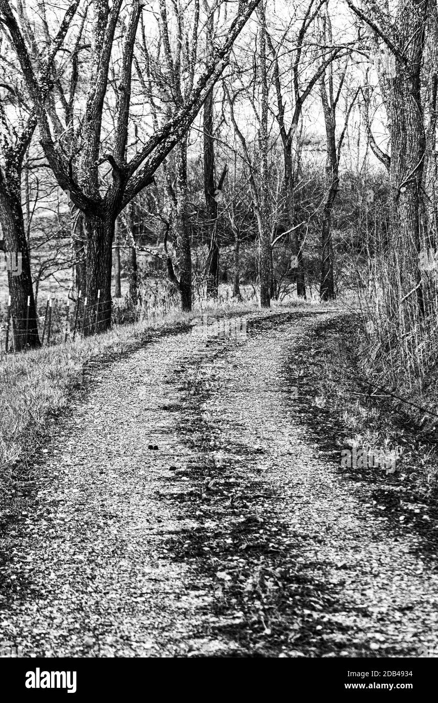
{"type": "Polygon", "coordinates": [[[437,339],[437,20],[434,0],[0,0],[17,348],[28,297],[40,344],[35,297],[60,270],[73,299],[100,291],[98,330],[121,277],[127,309],[148,278],[183,311],[227,283],[262,307],[354,295],[373,357],[421,382],[437,339]]]}

